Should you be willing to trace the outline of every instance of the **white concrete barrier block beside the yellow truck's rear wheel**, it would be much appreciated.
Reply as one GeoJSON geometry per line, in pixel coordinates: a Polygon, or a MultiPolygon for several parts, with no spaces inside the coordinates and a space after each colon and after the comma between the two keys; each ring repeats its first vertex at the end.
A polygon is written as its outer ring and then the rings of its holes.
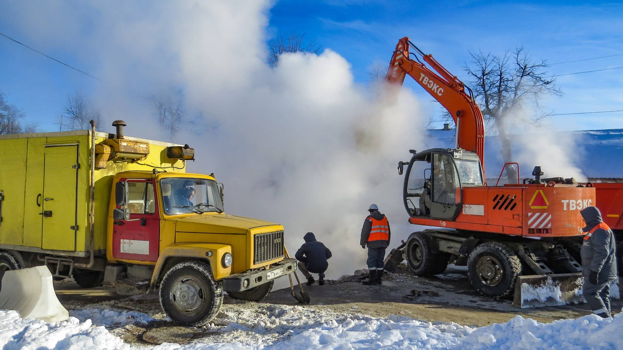
{"type": "Polygon", "coordinates": [[[15,310],[22,318],[46,322],[67,321],[69,313],[60,304],[45,266],[10,270],[2,277],[0,309],[15,310]]]}

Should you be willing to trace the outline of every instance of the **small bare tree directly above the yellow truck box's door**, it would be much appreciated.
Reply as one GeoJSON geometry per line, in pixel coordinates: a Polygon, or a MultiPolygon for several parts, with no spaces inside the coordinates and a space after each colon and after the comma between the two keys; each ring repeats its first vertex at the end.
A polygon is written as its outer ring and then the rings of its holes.
{"type": "Polygon", "coordinates": [[[100,125],[100,111],[88,101],[81,93],[75,92],[67,96],[67,102],[60,115],[60,130],[84,130],[90,129],[89,121],[95,120],[95,125],[100,125]]]}

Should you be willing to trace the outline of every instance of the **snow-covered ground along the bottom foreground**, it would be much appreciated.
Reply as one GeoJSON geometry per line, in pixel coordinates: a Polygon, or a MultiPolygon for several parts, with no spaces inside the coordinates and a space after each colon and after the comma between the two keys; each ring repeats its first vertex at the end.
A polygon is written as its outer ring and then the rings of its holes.
{"type": "MultiPolygon", "coordinates": [[[[219,314],[204,334],[186,344],[124,343],[111,326],[159,323],[133,311],[72,311],[69,321],[45,323],[21,319],[15,311],[0,310],[0,348],[17,349],[623,349],[623,316],[595,315],[538,323],[516,316],[487,327],[430,323],[391,316],[369,316],[318,311],[302,306],[253,303],[219,314]],[[257,305],[259,306],[259,305],[257,305]],[[107,328],[108,327],[108,328],[107,328]]],[[[623,314],[622,314],[623,315],[623,314]]],[[[163,322],[164,323],[164,322],[163,322]]]]}

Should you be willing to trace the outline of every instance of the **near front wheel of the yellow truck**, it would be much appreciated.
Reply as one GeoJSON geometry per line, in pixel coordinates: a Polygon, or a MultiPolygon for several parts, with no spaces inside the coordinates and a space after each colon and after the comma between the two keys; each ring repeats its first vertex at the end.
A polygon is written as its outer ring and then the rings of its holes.
{"type": "Polygon", "coordinates": [[[164,275],[159,294],[164,312],[173,321],[188,326],[209,323],[223,303],[221,282],[214,281],[210,266],[204,262],[174,265],[164,275]]]}

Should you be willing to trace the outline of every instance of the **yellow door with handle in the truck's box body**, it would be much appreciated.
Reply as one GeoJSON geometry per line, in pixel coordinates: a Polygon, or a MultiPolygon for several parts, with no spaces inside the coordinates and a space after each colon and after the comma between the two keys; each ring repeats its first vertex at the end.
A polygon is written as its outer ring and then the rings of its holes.
{"type": "Polygon", "coordinates": [[[41,248],[76,250],[78,144],[47,144],[43,192],[37,202],[43,217],[41,248]]]}

